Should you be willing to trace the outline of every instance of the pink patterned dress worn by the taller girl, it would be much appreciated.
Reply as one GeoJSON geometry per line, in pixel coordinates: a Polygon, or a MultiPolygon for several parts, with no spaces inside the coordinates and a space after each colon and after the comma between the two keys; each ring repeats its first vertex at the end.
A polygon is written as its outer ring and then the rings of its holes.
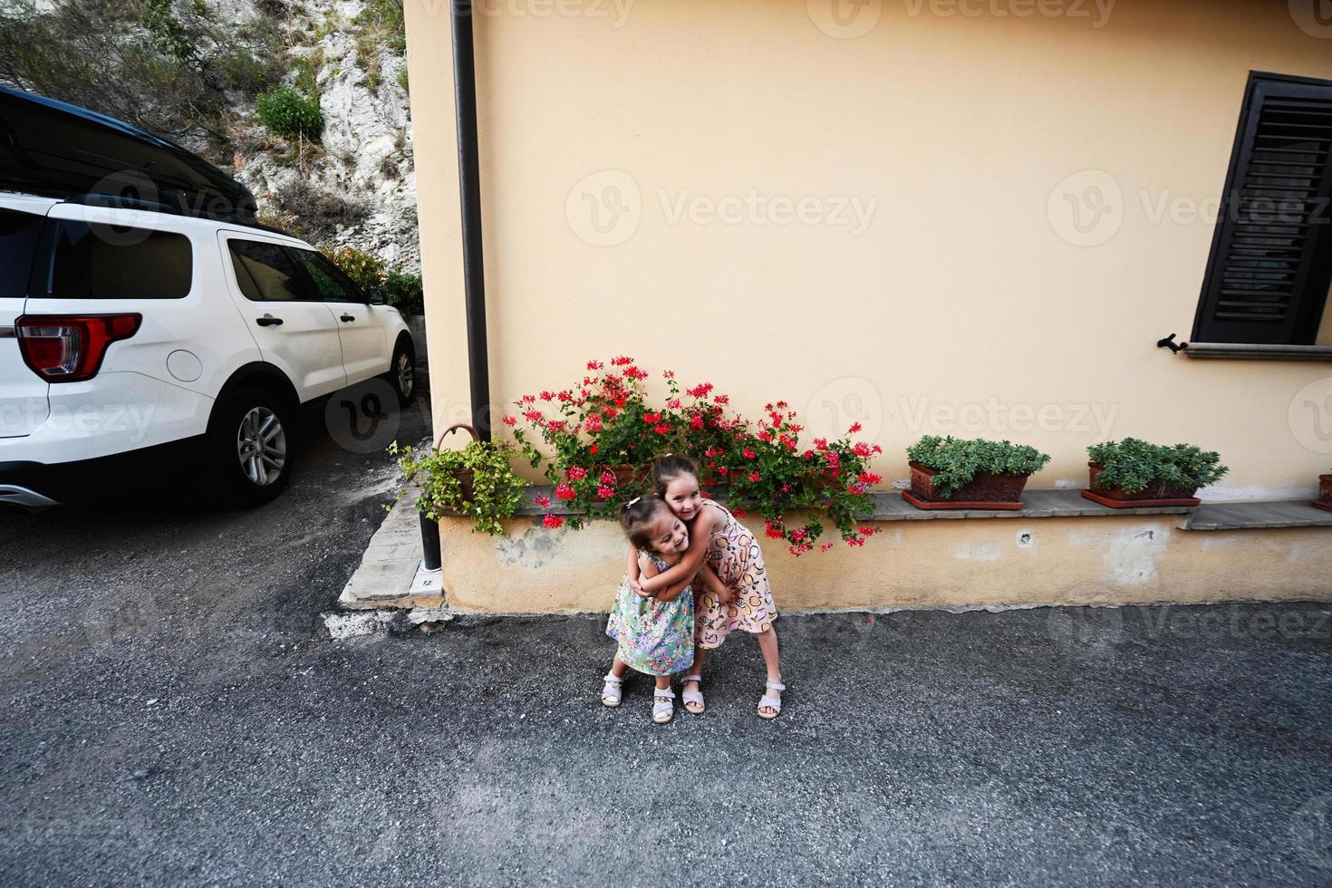
{"type": "MultiPolygon", "coordinates": [[[[721,503],[705,499],[705,505],[721,509],[726,527],[713,534],[707,542],[705,563],[717,572],[722,584],[735,594],[729,607],[711,592],[699,595],[694,616],[694,640],[699,647],[721,647],[735,630],[766,632],[777,619],[773,588],[767,584],[763,550],[758,539],[735,515],[721,503]]],[[[695,519],[697,521],[697,519],[695,519]]]]}

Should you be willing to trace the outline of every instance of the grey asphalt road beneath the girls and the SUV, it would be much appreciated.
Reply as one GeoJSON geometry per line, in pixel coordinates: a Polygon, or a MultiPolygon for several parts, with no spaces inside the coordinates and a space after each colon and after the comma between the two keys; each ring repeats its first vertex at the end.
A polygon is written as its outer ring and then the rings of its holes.
{"type": "Polygon", "coordinates": [[[330,640],[392,470],[310,426],[257,511],[0,517],[0,884],[1332,881],[1327,606],[787,615],[777,722],[742,642],[657,727],[602,618],[330,640]]]}

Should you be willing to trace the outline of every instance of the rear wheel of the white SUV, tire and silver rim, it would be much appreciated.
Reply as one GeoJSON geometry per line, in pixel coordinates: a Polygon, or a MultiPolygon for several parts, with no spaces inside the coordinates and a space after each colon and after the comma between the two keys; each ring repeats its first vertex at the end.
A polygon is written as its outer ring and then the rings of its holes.
{"type": "Polygon", "coordinates": [[[208,450],[218,497],[233,506],[266,503],[292,475],[296,413],[269,391],[240,386],[224,397],[208,423],[208,450]]]}

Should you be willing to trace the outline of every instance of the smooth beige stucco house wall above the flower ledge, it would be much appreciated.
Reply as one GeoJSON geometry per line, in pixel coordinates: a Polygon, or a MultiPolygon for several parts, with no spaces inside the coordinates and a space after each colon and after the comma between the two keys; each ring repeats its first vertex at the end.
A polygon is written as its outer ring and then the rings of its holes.
{"type": "MultiPolygon", "coordinates": [[[[1332,40],[1285,3],[870,0],[842,28],[832,1],[478,3],[496,402],[627,353],[745,410],[786,398],[815,434],[860,419],[888,479],[928,431],[1050,451],[1034,487],[1080,485],[1088,443],[1136,435],[1220,450],[1211,499],[1311,491],[1332,467],[1332,365],[1154,343],[1189,334],[1212,234],[1191,213],[1223,188],[1249,69],[1332,79],[1332,40]],[[1079,232],[1066,196],[1095,189],[1107,212],[1084,202],[1079,232]],[[806,221],[782,221],[802,198],[806,221]],[[832,224],[843,204],[863,230],[832,224]]],[[[469,409],[449,17],[406,5],[442,425],[469,409]]]]}

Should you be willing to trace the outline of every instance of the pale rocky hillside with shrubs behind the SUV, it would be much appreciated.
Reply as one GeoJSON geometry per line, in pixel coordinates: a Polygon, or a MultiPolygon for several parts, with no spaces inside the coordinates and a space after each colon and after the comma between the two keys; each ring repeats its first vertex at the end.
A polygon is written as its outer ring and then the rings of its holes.
{"type": "Polygon", "coordinates": [[[0,0],[0,83],[172,138],[265,221],[418,272],[405,45],[402,0],[0,0]],[[274,93],[321,128],[265,118],[274,93]]]}

